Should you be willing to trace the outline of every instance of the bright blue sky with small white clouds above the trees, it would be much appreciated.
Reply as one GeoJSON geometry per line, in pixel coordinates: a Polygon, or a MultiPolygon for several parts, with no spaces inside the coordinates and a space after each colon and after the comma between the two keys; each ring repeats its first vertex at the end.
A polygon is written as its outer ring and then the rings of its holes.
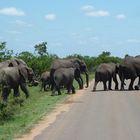
{"type": "Polygon", "coordinates": [[[34,51],[124,57],[140,54],[139,0],[0,0],[0,41],[15,53],[34,51]]]}

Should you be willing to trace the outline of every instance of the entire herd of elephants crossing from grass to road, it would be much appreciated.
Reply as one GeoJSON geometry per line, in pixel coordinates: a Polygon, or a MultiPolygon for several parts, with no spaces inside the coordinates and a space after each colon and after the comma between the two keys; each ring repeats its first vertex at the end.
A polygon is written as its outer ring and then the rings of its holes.
{"type": "MultiPolygon", "coordinates": [[[[41,89],[51,89],[51,95],[61,94],[61,89],[66,88],[67,93],[75,93],[73,85],[74,79],[78,82],[79,89],[83,89],[84,82],[81,74],[86,76],[86,87],[89,86],[88,69],[84,61],[73,59],[56,59],[50,66],[50,71],[45,71],[40,76],[41,89]]],[[[115,90],[124,90],[125,80],[130,79],[128,89],[140,89],[140,56],[127,56],[121,63],[102,63],[95,71],[95,82],[93,91],[96,91],[98,82],[103,82],[104,90],[112,90],[112,81],[115,83],[115,90]],[[117,75],[119,78],[117,78],[117,75]],[[138,84],[134,85],[136,78],[139,78],[138,84]],[[119,87],[119,84],[120,87],[119,87]],[[108,85],[107,85],[108,83],[108,85]]],[[[37,86],[35,74],[32,68],[17,58],[6,60],[0,63],[0,86],[2,90],[2,99],[7,101],[11,89],[13,89],[14,97],[20,95],[19,87],[25,93],[26,98],[29,97],[27,81],[31,86],[37,86]]]]}

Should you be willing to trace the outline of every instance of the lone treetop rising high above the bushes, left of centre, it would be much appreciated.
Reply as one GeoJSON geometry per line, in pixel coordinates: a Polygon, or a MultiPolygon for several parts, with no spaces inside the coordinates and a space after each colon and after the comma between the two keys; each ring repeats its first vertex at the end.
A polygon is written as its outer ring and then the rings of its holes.
{"type": "Polygon", "coordinates": [[[35,52],[39,54],[39,56],[48,55],[47,52],[47,42],[42,42],[34,46],[35,52]]]}

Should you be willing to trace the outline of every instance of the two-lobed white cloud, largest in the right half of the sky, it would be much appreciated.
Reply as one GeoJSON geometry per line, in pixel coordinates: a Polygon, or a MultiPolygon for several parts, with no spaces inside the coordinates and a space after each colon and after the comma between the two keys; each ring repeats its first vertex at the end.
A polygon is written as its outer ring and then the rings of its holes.
{"type": "Polygon", "coordinates": [[[106,17],[110,13],[106,10],[95,10],[92,5],[85,5],[81,8],[85,16],[89,17],[106,17]]]}

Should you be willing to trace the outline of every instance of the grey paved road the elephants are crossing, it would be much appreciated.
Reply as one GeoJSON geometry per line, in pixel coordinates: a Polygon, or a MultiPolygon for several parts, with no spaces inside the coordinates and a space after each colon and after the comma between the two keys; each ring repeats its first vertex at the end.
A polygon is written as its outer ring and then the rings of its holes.
{"type": "Polygon", "coordinates": [[[64,103],[72,104],[69,111],[34,140],[140,140],[140,91],[91,92],[92,86],[64,103]]]}

